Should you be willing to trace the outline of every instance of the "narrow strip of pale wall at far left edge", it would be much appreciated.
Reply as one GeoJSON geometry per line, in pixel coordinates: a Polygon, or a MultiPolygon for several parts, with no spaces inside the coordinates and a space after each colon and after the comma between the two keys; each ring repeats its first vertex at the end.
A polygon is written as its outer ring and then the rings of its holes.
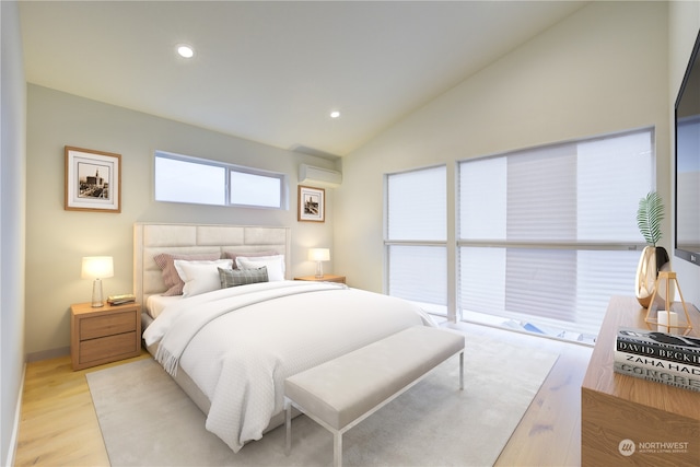
{"type": "Polygon", "coordinates": [[[0,2],[0,462],[12,465],[24,371],[25,97],[16,2],[0,2]]]}

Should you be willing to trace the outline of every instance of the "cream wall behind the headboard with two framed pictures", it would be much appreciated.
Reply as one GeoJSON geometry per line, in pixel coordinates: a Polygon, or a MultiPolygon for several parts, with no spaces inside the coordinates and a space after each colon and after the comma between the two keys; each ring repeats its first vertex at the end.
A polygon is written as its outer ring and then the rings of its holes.
{"type": "MultiPolygon", "coordinates": [[[[81,258],[114,256],[115,277],[104,294],[132,291],[135,222],[185,222],[292,227],[292,272],[311,275],[306,248],[332,248],[334,190],[326,190],[326,222],[296,222],[300,163],[334,168],[330,161],[296,154],[121,107],[30,85],[27,98],[26,352],[31,359],[65,353],[69,307],[90,301],[81,258]],[[63,209],[63,148],[121,154],[121,213],[63,209]],[[290,209],[243,209],[155,202],[153,152],[224,161],[289,175],[290,209]]],[[[332,261],[325,265],[332,271],[332,261]]]]}

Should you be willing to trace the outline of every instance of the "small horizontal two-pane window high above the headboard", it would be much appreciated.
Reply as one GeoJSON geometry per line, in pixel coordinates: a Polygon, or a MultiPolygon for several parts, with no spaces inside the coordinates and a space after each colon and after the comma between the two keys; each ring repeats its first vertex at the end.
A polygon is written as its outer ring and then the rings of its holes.
{"type": "Polygon", "coordinates": [[[155,200],[287,208],[284,174],[155,152],[155,200]]]}

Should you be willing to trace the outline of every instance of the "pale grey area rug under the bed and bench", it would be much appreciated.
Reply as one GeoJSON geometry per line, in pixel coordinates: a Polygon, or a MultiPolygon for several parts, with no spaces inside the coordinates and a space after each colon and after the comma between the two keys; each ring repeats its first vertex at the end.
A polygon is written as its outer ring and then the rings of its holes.
{"type": "MultiPolygon", "coordinates": [[[[558,355],[468,336],[465,388],[458,359],[343,435],[346,466],[490,466],[508,443],[558,355]]],[[[237,454],[205,429],[205,415],[152,359],[88,374],[114,467],[328,466],[332,435],[305,416],[237,454]]]]}

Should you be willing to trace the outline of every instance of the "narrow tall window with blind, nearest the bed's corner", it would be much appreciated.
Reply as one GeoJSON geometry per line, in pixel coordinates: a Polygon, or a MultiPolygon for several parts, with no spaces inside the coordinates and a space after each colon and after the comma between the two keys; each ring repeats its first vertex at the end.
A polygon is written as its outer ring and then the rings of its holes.
{"type": "Polygon", "coordinates": [[[447,313],[446,167],[386,176],[387,293],[447,313]]]}

